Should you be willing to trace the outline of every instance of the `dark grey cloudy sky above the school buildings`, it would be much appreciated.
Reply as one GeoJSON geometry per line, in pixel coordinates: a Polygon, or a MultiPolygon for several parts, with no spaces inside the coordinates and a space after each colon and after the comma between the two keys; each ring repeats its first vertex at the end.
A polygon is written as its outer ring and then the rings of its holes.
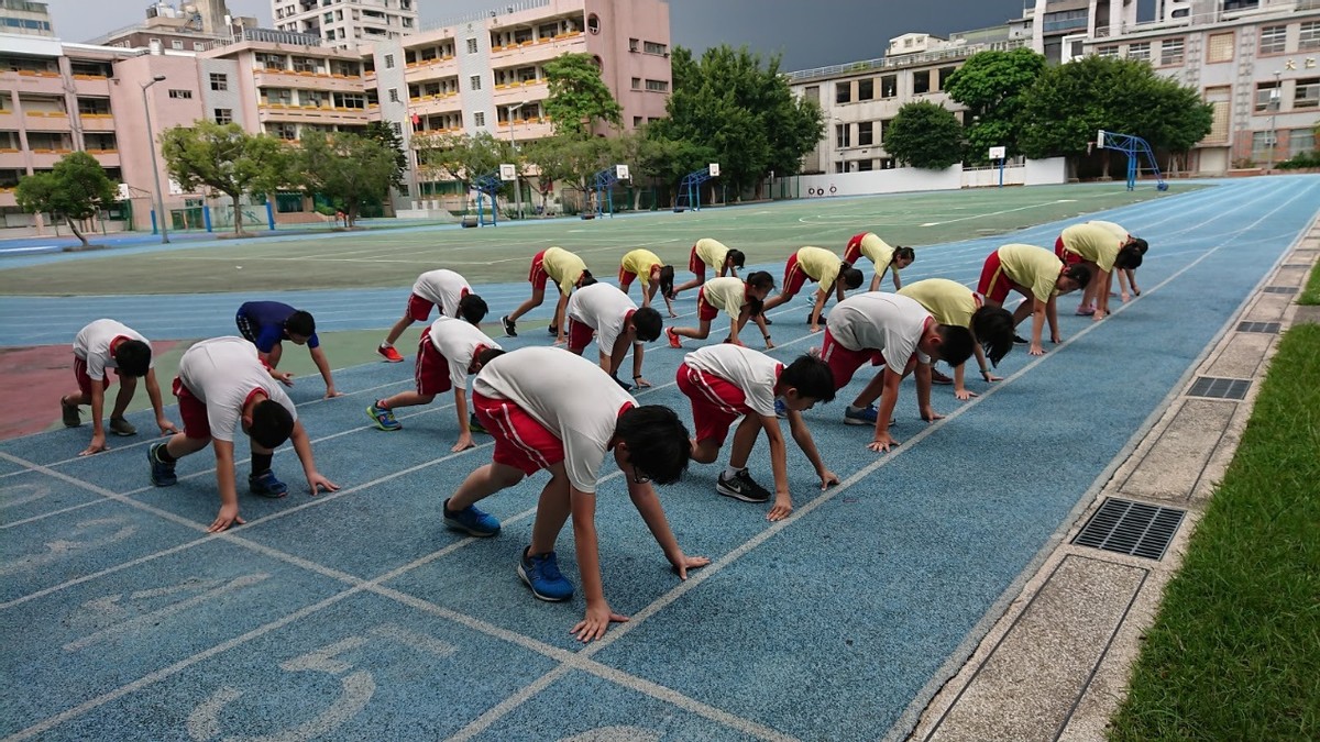
{"type": "MultiPolygon", "coordinates": [[[[55,33],[86,41],[145,17],[149,0],[46,0],[55,33]]],[[[177,4],[178,0],[172,0],[177,4]]],[[[498,0],[418,0],[422,25],[498,0]]],[[[781,69],[797,70],[884,55],[890,37],[920,30],[946,34],[1001,24],[1022,15],[1030,0],[669,0],[676,45],[706,49],[746,44],[779,51],[781,69]]],[[[271,22],[269,0],[228,0],[236,16],[271,22]]]]}

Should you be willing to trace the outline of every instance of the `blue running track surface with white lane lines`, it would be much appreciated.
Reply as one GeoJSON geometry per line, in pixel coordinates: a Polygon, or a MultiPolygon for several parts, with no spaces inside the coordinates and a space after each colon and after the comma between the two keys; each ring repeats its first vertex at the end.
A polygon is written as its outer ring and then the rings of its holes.
{"type": "MultiPolygon", "coordinates": [[[[137,438],[88,458],[77,455],[86,428],[0,442],[0,627],[9,638],[0,737],[903,738],[1317,210],[1320,177],[1294,176],[1092,215],[1150,242],[1139,298],[1115,297],[1115,314],[1092,322],[1072,314],[1074,296],[1063,297],[1063,345],[1041,358],[1018,346],[993,386],[969,374],[981,396],[966,403],[936,387],[935,408],[948,417],[935,424],[919,419],[906,382],[891,429],[902,445],[890,454],[866,450],[869,428],[842,424],[863,368],[834,403],[807,413],[842,483],[821,492],[788,446],[788,520],[771,524],[768,504],[715,494],[727,450],[718,465],[693,465],[657,487],[684,551],[713,560],[686,582],[607,466],[602,573],[610,605],[631,621],[586,646],[569,634],[581,591],[544,603],[515,574],[545,474],[482,503],[503,522],[499,536],[466,537],[445,528],[441,500],[490,461],[490,438],[449,452],[450,395],[401,412],[401,432],[368,422],[371,401],[411,387],[411,358],[337,371],[342,399],[321,400],[319,380],[301,379],[290,392],[318,469],[342,489],[309,496],[285,446],[275,471],[289,496],[240,487],[247,525],[224,533],[206,533],[219,507],[210,450],[178,465],[177,486],[150,486],[149,413],[131,416],[137,438]]],[[[924,247],[903,280],[974,287],[991,250],[1049,247],[1069,222],[924,247]]],[[[764,268],[777,276],[783,264],[764,268]]],[[[321,326],[366,329],[397,318],[401,292],[289,297],[321,326]]],[[[494,320],[525,298],[527,284],[480,293],[494,320]]],[[[153,338],[232,334],[240,298],[5,297],[0,345],[63,343],[100,316],[153,338]]],[[[694,300],[686,292],[672,322],[694,323],[694,300]]],[[[532,318],[552,309],[548,298],[532,318]]],[[[804,294],[771,313],[772,355],[787,362],[818,346],[808,312],[804,294]]],[[[759,347],[754,330],[743,338],[759,347]]],[[[502,341],[548,342],[543,329],[502,341]]],[[[652,343],[655,388],[638,397],[690,425],[673,384],[684,353],[652,343]]],[[[750,466],[771,482],[764,441],[750,466]]],[[[558,555],[581,585],[568,532],[558,555]]]]}

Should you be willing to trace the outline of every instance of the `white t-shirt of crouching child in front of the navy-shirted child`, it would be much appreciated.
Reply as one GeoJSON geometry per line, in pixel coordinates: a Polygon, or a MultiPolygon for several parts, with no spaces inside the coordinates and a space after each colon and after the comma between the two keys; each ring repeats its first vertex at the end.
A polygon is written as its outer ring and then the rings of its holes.
{"type": "Polygon", "coordinates": [[[178,379],[206,405],[206,422],[218,441],[234,442],[243,405],[257,391],[298,419],[289,395],[271,378],[256,347],[243,338],[211,338],[187,349],[178,362],[178,379]]]}

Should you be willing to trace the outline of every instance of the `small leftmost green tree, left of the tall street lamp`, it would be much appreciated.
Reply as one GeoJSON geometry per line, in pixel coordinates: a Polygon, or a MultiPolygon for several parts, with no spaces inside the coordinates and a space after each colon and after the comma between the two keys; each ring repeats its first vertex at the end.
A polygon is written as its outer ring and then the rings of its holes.
{"type": "Polygon", "coordinates": [[[20,178],[15,199],[29,214],[63,217],[74,236],[87,247],[87,238],[77,222],[95,217],[114,202],[115,184],[91,154],[71,152],[61,157],[51,172],[20,178]]]}

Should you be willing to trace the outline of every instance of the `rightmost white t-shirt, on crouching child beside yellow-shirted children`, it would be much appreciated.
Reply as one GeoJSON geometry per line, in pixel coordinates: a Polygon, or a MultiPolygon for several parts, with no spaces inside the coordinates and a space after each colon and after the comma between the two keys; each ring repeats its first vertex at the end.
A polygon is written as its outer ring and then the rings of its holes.
{"type": "MultiPolygon", "coordinates": [[[[866,292],[838,302],[825,327],[847,350],[878,350],[892,368],[902,371],[912,354],[917,354],[927,321],[935,318],[915,298],[866,292]]],[[[931,358],[919,354],[919,360],[929,363],[931,358]]]]}

